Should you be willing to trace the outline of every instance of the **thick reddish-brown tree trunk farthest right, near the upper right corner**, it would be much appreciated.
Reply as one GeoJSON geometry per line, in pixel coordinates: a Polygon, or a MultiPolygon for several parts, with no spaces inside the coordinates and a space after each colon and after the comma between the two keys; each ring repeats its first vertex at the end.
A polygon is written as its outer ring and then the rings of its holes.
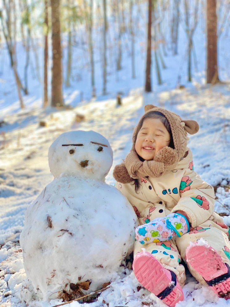
{"type": "Polygon", "coordinates": [[[217,63],[216,0],[207,0],[207,83],[219,81],[217,63]]]}

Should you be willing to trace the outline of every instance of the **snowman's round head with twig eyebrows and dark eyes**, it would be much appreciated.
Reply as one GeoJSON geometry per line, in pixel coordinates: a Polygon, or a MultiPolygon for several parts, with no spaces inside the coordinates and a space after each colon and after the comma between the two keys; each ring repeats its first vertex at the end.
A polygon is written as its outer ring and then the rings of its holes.
{"type": "Polygon", "coordinates": [[[62,175],[105,181],[112,163],[113,151],[108,140],[94,131],[65,132],[49,148],[54,178],[62,175]]]}

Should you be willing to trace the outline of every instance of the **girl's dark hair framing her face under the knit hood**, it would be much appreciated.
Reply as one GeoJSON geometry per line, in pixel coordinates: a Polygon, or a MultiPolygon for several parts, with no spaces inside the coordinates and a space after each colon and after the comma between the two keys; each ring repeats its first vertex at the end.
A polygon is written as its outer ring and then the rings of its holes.
{"type": "MultiPolygon", "coordinates": [[[[136,143],[136,140],[137,140],[137,134],[138,132],[141,130],[141,127],[143,125],[143,122],[145,119],[147,118],[151,118],[151,119],[159,119],[166,127],[168,133],[170,134],[170,143],[169,143],[169,147],[173,148],[174,149],[174,143],[173,143],[173,139],[172,139],[172,132],[171,132],[171,127],[169,125],[169,122],[167,120],[167,118],[160,112],[148,112],[146,113],[146,115],[144,115],[141,119],[141,121],[139,122],[138,126],[137,126],[137,131],[136,133],[133,135],[133,143],[135,144],[136,143]]],[[[140,160],[141,161],[144,161],[140,156],[139,156],[140,160]]],[[[134,179],[134,184],[135,184],[135,191],[137,192],[137,190],[139,189],[140,187],[140,184],[139,184],[139,179],[134,179]]]]}

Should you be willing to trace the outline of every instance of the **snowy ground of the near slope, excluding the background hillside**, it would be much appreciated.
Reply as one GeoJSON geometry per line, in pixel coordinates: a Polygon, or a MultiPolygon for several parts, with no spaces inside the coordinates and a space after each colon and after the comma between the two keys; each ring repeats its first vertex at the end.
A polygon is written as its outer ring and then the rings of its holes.
{"type": "MultiPolygon", "coordinates": [[[[214,87],[194,85],[184,90],[162,91],[142,95],[137,90],[123,99],[117,107],[115,100],[82,103],[76,108],[54,112],[32,110],[6,116],[0,128],[0,292],[1,306],[44,307],[62,303],[60,300],[41,302],[36,299],[24,272],[19,235],[23,228],[28,204],[52,181],[48,166],[48,148],[62,132],[69,130],[95,130],[103,134],[114,151],[113,167],[120,163],[131,147],[132,131],[143,113],[143,105],[154,103],[178,112],[184,119],[200,124],[198,134],[191,136],[189,147],[193,151],[194,168],[201,177],[217,187],[216,211],[229,214],[229,94],[230,85],[214,87]],[[85,120],[77,123],[76,114],[85,120]],[[39,127],[45,121],[46,127],[39,127]]],[[[113,167],[106,182],[114,184],[113,167]]],[[[226,217],[228,221],[228,217],[226,217]]],[[[138,307],[163,306],[153,294],[138,287],[128,267],[120,267],[110,288],[89,303],[97,306],[138,307]]],[[[219,299],[208,287],[201,286],[187,274],[182,306],[225,306],[230,300],[219,299]]],[[[86,304],[86,303],[85,303],[86,304]]],[[[85,304],[72,302],[71,307],[85,304]]],[[[86,306],[86,305],[85,305],[86,306]]]]}

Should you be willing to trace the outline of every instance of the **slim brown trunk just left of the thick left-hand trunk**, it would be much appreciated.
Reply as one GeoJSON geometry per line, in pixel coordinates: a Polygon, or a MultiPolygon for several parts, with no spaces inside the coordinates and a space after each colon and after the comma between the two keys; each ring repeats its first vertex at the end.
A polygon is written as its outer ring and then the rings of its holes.
{"type": "Polygon", "coordinates": [[[45,0],[45,46],[44,46],[44,85],[43,85],[43,107],[48,106],[48,33],[49,33],[49,20],[48,20],[48,0],[45,0]]]}

